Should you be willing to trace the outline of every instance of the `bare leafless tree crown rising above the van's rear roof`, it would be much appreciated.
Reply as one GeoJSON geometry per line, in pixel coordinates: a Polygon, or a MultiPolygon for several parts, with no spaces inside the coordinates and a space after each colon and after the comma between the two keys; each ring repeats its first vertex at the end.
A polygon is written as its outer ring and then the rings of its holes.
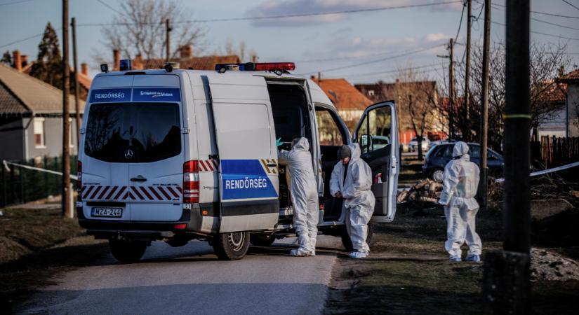
{"type": "MultiPolygon", "coordinates": [[[[145,59],[163,58],[166,47],[167,19],[171,20],[171,57],[177,57],[180,47],[194,45],[196,51],[204,48],[206,29],[192,22],[191,13],[173,0],[124,0],[109,25],[102,27],[105,47],[118,49],[126,58],[141,55],[145,59]]],[[[94,58],[106,62],[102,52],[94,58]]]]}

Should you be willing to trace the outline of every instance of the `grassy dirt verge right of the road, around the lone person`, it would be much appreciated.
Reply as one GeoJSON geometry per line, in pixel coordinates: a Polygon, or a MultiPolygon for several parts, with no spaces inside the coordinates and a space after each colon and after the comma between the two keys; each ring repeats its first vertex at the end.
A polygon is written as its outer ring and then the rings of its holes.
{"type": "MultiPolygon", "coordinates": [[[[420,203],[400,205],[393,223],[374,226],[368,258],[338,259],[326,314],[481,313],[483,265],[448,262],[443,209],[416,207],[417,204],[420,203]]],[[[501,218],[498,209],[479,212],[477,231],[483,241],[483,254],[502,248],[501,218]]],[[[575,252],[551,249],[543,255],[551,265],[543,269],[557,272],[559,267],[561,274],[571,270],[571,261],[575,261],[568,257],[569,253],[575,252]]],[[[575,314],[579,307],[579,281],[572,276],[544,279],[533,282],[533,313],[575,314]]]]}

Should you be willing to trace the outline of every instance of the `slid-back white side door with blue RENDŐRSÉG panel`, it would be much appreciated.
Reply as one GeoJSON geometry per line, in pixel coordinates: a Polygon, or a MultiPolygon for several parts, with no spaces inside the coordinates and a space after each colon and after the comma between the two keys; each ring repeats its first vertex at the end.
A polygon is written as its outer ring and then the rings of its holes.
{"type": "Polygon", "coordinates": [[[209,77],[219,159],[219,232],[267,230],[279,217],[277,147],[265,80],[209,77]]]}

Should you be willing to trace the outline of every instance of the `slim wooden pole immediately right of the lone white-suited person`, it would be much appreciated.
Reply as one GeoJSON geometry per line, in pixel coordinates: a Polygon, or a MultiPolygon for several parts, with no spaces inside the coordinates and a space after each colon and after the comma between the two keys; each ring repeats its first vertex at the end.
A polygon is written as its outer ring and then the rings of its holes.
{"type": "Polygon", "coordinates": [[[484,1],[484,36],[483,36],[483,69],[482,69],[482,113],[481,113],[481,208],[488,204],[488,168],[486,166],[486,144],[488,137],[488,57],[491,53],[491,0],[484,1]]]}

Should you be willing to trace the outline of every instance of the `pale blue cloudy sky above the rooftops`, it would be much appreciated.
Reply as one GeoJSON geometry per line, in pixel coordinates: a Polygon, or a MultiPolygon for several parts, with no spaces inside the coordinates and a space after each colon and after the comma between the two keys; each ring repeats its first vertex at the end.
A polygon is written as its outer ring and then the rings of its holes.
{"type": "MultiPolygon", "coordinates": [[[[102,0],[114,8],[122,0],[102,0]]],[[[479,1],[473,0],[472,14],[481,11],[479,1]]],[[[531,34],[540,43],[567,43],[572,64],[579,65],[579,0],[531,1],[532,31],[551,34],[531,34]],[[560,16],[540,13],[553,13],[560,16]],[[571,18],[574,17],[574,18],[571,18]],[[557,24],[552,25],[552,24],[557,24]],[[563,36],[575,39],[558,38],[563,36]]],[[[451,2],[451,0],[195,0],[178,1],[192,19],[264,17],[299,13],[336,12],[406,6],[423,3],[451,2]]],[[[41,34],[48,21],[55,28],[62,27],[61,0],[0,0],[0,51],[19,49],[22,54],[36,59],[41,37],[6,45],[29,36],[41,34]]],[[[492,20],[505,22],[503,1],[493,1],[492,20]]],[[[116,14],[111,8],[95,0],[70,0],[70,17],[78,24],[109,22],[116,14]]],[[[455,1],[437,6],[374,10],[358,13],[314,15],[295,18],[205,22],[205,54],[223,51],[229,38],[236,45],[244,41],[248,50],[255,50],[261,62],[293,61],[295,73],[317,73],[323,78],[347,78],[351,83],[371,83],[382,79],[391,81],[396,69],[407,66],[429,71],[427,75],[438,79],[447,59],[444,45],[457,34],[462,3],[455,1]],[[432,49],[428,49],[432,48],[432,49]],[[429,67],[430,66],[430,67],[429,67]]],[[[482,15],[473,22],[473,44],[479,44],[483,26],[482,15]]],[[[492,41],[502,41],[505,29],[491,25],[492,41]]],[[[60,37],[59,31],[59,37],[60,37]]],[[[79,62],[96,67],[92,56],[103,51],[100,27],[79,27],[79,62]]],[[[466,38],[466,13],[458,34],[455,56],[460,62],[466,38]]],[[[62,41],[60,42],[62,45],[62,41]]],[[[194,50],[197,52],[197,50],[194,50]]],[[[110,53],[112,59],[112,52],[110,53]]],[[[96,70],[91,70],[94,75],[96,70]]]]}

